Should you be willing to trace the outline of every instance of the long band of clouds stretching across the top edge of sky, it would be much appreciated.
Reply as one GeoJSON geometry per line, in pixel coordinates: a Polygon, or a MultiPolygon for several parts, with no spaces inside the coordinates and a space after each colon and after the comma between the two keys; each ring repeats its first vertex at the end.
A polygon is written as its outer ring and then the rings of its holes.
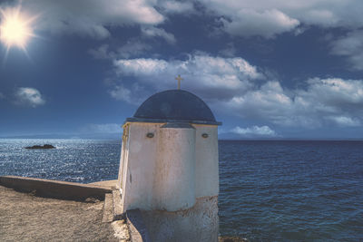
{"type": "MultiPolygon", "coordinates": [[[[110,36],[110,26],[162,24],[168,15],[191,13],[193,1],[166,0],[32,0],[23,9],[40,14],[37,28],[54,33],[110,36]]],[[[207,13],[221,19],[230,34],[267,38],[295,31],[300,24],[359,29],[363,26],[360,0],[200,0],[207,13]]],[[[167,33],[168,34],[168,33],[167,33]]]]}

